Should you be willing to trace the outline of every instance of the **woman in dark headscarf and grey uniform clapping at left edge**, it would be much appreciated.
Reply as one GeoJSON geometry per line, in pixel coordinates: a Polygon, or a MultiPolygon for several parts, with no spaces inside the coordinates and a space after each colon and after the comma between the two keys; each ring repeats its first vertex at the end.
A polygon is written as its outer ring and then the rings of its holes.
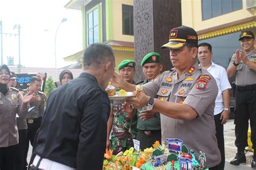
{"type": "Polygon", "coordinates": [[[10,70],[6,65],[0,65],[0,169],[14,169],[18,130],[16,114],[25,117],[28,112],[27,103],[33,94],[24,97],[16,88],[8,88],[10,70]]]}

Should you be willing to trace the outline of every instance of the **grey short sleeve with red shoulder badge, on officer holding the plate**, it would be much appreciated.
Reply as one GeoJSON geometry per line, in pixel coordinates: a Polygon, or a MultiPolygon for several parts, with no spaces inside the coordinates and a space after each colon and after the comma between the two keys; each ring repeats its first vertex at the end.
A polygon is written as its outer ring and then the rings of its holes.
{"type": "MultiPolygon", "coordinates": [[[[208,75],[207,75],[208,76],[208,75]]],[[[202,116],[206,108],[215,101],[215,98],[218,94],[217,84],[212,76],[211,79],[200,78],[197,80],[197,83],[194,84],[190,93],[187,95],[184,100],[184,104],[189,105],[191,108],[196,110],[198,116],[202,116]],[[201,84],[201,82],[207,82],[206,84],[201,84]],[[201,86],[201,88],[200,88],[201,86]],[[202,87],[204,86],[204,88],[202,87]]]]}

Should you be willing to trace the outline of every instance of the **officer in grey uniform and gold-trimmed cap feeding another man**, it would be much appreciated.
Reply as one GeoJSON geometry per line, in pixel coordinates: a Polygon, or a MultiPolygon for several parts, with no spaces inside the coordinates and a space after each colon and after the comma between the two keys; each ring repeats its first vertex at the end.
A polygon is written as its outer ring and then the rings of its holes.
{"type": "MultiPolygon", "coordinates": [[[[138,98],[126,101],[135,108],[146,106],[149,112],[160,112],[162,143],[166,138],[182,139],[188,148],[194,149],[197,158],[199,151],[205,153],[207,167],[218,169],[220,151],[213,116],[218,87],[210,73],[201,69],[196,61],[197,33],[187,26],[174,28],[163,48],[170,48],[175,68],[142,86],[149,96],[140,93],[138,98]]],[[[122,81],[117,74],[112,84],[128,91],[135,90],[135,86],[122,81]]]]}

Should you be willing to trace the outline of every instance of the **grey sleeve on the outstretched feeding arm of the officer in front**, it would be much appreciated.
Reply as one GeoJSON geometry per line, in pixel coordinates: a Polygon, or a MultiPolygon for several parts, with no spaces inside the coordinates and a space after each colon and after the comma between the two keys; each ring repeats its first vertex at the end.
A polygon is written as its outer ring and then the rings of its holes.
{"type": "Polygon", "coordinates": [[[157,76],[155,79],[151,80],[150,82],[143,84],[142,87],[147,96],[157,98],[157,92],[159,90],[162,79],[163,79],[163,74],[157,76]]]}

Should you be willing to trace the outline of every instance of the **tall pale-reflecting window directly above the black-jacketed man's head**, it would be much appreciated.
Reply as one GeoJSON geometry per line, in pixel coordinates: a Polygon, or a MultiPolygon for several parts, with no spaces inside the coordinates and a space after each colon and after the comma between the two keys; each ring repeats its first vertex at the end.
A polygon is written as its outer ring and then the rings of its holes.
{"type": "Polygon", "coordinates": [[[88,44],[99,42],[99,11],[98,8],[87,14],[88,44]]]}

